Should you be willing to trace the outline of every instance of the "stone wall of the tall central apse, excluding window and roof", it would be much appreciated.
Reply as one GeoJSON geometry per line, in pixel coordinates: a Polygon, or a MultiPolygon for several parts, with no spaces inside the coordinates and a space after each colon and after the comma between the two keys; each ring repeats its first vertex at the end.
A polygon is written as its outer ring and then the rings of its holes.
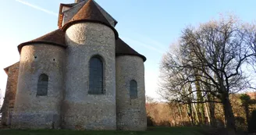
{"type": "Polygon", "coordinates": [[[66,30],[65,128],[116,130],[115,42],[113,30],[100,23],[76,23],[66,30]],[[104,94],[88,94],[94,55],[104,63],[104,94]]]}

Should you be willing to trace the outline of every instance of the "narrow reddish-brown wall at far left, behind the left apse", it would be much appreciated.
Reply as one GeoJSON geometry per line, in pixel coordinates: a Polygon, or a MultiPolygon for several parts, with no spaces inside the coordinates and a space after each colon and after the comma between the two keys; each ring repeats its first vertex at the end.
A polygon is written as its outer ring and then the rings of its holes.
{"type": "Polygon", "coordinates": [[[2,125],[10,126],[12,118],[12,110],[14,107],[16,87],[19,76],[20,62],[16,62],[14,65],[9,66],[8,79],[5,90],[5,100],[2,106],[2,125]]]}

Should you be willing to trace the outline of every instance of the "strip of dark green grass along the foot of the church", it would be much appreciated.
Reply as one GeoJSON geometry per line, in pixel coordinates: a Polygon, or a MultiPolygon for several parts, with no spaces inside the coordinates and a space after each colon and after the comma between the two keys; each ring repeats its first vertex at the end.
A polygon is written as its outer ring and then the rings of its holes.
{"type": "Polygon", "coordinates": [[[204,135],[201,127],[149,127],[147,131],[0,130],[0,135],[204,135]]]}

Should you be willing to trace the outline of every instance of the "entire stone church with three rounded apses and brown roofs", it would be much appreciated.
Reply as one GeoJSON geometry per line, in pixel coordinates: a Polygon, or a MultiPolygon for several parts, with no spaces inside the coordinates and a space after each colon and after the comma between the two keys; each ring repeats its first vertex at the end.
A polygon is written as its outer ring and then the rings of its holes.
{"type": "Polygon", "coordinates": [[[18,45],[5,68],[2,124],[13,129],[145,130],[146,58],[94,0],[60,4],[58,30],[18,45]]]}

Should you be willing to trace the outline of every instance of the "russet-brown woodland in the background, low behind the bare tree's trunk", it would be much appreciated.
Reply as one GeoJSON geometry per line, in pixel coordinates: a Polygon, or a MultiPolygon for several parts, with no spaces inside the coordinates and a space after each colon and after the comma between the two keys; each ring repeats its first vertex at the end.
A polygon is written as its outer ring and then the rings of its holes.
{"type": "MultiPolygon", "coordinates": [[[[254,104],[255,98],[256,92],[230,95],[230,102],[235,115],[236,127],[239,130],[247,131],[248,123],[250,123],[250,120],[253,121],[251,118],[253,117],[252,112],[256,109],[256,105],[254,104]],[[249,122],[247,122],[247,120],[249,122]]],[[[215,114],[211,119],[209,105],[208,103],[204,103],[204,121],[198,115],[200,114],[200,111],[196,109],[197,104],[194,103],[194,106],[195,108],[192,109],[194,116],[191,117],[190,110],[187,108],[187,105],[177,102],[158,102],[153,98],[147,97],[146,109],[148,115],[148,126],[225,127],[225,117],[221,104],[215,104],[215,114]]],[[[256,123],[251,123],[253,126],[255,126],[255,124],[256,123]]],[[[252,131],[254,131],[254,129],[252,129],[252,131]]]]}

